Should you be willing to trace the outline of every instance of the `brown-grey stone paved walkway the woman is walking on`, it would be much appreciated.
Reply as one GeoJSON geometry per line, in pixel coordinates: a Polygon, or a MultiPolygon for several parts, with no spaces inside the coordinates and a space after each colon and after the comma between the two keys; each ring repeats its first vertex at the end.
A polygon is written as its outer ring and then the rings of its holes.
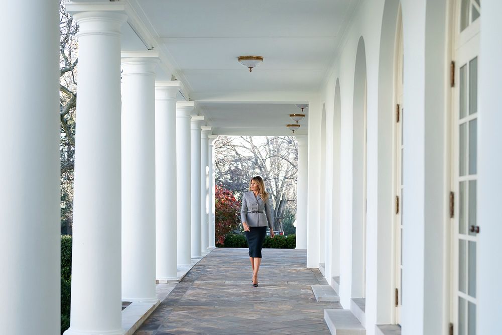
{"type": "Polygon", "coordinates": [[[310,285],[325,285],[307,269],[306,251],[263,249],[259,286],[251,286],[247,249],[220,248],[202,259],[135,332],[165,334],[329,334],[325,308],[310,285]]]}

